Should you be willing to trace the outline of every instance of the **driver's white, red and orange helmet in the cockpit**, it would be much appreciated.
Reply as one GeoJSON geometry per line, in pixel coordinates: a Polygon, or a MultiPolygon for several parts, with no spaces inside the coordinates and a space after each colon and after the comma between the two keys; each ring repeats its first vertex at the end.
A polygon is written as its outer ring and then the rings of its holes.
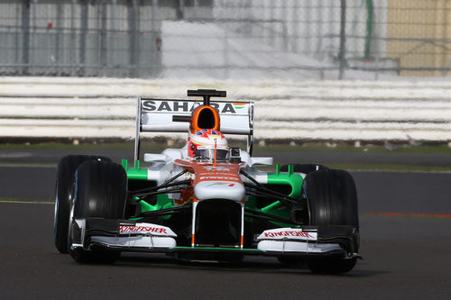
{"type": "Polygon", "coordinates": [[[214,129],[202,129],[191,136],[188,143],[189,157],[214,159],[215,143],[216,160],[227,160],[229,147],[226,137],[214,129]]]}

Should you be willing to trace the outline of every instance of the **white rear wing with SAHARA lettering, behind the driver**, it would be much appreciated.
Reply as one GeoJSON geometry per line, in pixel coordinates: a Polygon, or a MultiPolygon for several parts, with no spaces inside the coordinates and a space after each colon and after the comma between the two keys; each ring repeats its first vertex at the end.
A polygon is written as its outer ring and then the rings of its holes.
{"type": "MultiPolygon", "coordinates": [[[[216,91],[221,92],[221,91],[216,91]]],[[[224,92],[225,93],[225,92],[224,92]]],[[[216,95],[216,96],[225,96],[216,95]]],[[[205,100],[205,99],[204,99],[205,100]]],[[[193,99],[138,98],[134,160],[139,159],[141,132],[189,132],[189,118],[193,110],[206,101],[193,99]]],[[[208,97],[208,105],[220,117],[220,132],[247,135],[247,151],[253,150],[253,102],[215,101],[208,97]]]]}

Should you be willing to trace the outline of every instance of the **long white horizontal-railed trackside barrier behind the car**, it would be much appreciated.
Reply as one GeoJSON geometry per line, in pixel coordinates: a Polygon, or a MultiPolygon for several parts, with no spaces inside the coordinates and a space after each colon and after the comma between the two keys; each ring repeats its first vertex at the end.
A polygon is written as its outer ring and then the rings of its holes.
{"type": "Polygon", "coordinates": [[[131,139],[138,95],[183,99],[189,88],[255,101],[260,141],[451,141],[449,81],[74,77],[0,78],[0,139],[131,139]]]}

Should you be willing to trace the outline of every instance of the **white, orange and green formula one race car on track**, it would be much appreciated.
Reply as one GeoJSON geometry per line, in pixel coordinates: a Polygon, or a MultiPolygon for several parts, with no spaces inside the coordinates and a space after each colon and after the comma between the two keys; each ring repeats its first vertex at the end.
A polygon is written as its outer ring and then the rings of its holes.
{"type": "Polygon", "coordinates": [[[121,251],[236,261],[244,255],[341,273],[359,258],[354,179],[314,164],[253,157],[253,102],[138,98],[134,161],[70,155],[58,165],[54,241],[78,262],[121,251]],[[140,156],[142,132],[188,132],[181,149],[140,156]],[[230,148],[224,134],[247,136],[230,148]],[[143,158],[143,159],[141,159],[143,158]],[[142,162],[143,161],[143,162],[142,162]],[[146,167],[144,167],[146,164],[146,167]]]}

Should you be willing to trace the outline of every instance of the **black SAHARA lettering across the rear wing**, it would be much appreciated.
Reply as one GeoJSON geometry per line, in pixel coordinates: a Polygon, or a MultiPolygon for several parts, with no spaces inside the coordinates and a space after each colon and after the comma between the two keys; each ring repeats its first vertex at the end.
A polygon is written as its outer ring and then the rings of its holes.
{"type": "MultiPolygon", "coordinates": [[[[195,102],[185,101],[155,101],[144,100],[142,102],[143,111],[155,113],[191,113],[196,107],[195,102]]],[[[242,110],[247,106],[245,103],[210,103],[219,114],[237,114],[236,110],[242,110]]],[[[240,113],[245,114],[245,112],[240,113]]]]}

